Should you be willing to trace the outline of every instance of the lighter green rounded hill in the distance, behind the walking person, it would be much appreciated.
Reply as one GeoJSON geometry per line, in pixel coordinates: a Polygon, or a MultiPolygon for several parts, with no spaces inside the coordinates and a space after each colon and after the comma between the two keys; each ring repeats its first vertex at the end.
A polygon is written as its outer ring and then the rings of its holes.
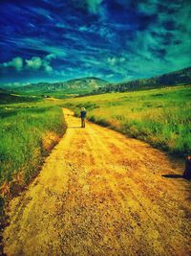
{"type": "Polygon", "coordinates": [[[60,82],[38,82],[16,88],[19,93],[34,93],[34,94],[54,94],[59,93],[89,93],[98,87],[105,86],[108,81],[104,81],[95,77],[82,79],[74,79],[70,81],[60,82]]]}

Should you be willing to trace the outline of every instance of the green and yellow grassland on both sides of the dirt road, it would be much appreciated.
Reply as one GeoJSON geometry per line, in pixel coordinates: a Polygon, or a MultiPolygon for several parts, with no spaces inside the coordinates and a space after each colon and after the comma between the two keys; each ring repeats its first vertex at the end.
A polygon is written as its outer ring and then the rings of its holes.
{"type": "Polygon", "coordinates": [[[60,106],[73,108],[75,115],[85,106],[92,122],[186,155],[191,153],[190,98],[191,87],[185,86],[0,105],[3,193],[14,190],[15,183],[28,183],[63,134],[66,126],[60,106]]]}

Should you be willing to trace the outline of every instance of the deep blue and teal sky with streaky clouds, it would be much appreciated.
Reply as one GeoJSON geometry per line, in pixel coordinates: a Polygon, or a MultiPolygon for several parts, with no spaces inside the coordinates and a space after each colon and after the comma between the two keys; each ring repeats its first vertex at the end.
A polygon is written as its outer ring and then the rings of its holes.
{"type": "Polygon", "coordinates": [[[190,49],[190,0],[0,0],[0,83],[149,78],[190,49]]]}

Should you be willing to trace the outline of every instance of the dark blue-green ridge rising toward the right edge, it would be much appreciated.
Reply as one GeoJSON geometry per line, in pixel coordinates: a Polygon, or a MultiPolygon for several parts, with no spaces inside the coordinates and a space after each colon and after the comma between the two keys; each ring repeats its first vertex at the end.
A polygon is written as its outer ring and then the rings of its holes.
{"type": "Polygon", "coordinates": [[[111,91],[124,92],[142,89],[152,89],[166,86],[176,86],[180,84],[191,84],[191,67],[183,68],[181,70],[166,73],[164,75],[153,77],[150,79],[124,81],[118,82],[116,84],[110,83],[105,87],[94,90],[93,94],[111,91]]]}

